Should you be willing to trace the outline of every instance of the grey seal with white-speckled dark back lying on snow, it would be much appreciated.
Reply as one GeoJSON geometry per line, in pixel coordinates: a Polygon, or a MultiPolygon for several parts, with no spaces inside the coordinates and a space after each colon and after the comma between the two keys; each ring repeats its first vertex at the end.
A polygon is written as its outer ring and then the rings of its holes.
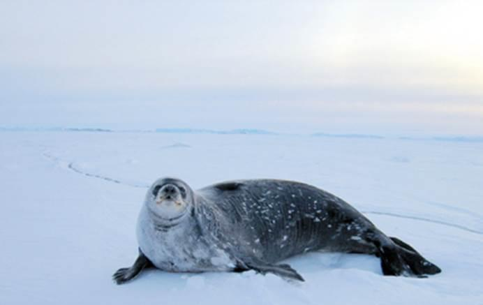
{"type": "Polygon", "coordinates": [[[441,271],[341,198],[295,181],[228,181],[193,191],[179,179],[158,179],[147,191],[136,233],[138,258],[113,275],[118,284],[147,267],[253,269],[304,281],[279,262],[308,251],[376,255],[385,275],[426,277],[441,271]]]}

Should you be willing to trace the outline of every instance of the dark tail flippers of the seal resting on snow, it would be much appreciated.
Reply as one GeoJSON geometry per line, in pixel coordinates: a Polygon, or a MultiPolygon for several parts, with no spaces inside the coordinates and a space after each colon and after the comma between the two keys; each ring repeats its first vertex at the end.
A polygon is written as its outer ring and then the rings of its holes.
{"type": "Polygon", "coordinates": [[[384,275],[426,277],[441,272],[438,266],[423,258],[412,246],[396,237],[389,238],[394,244],[379,248],[384,275]]]}

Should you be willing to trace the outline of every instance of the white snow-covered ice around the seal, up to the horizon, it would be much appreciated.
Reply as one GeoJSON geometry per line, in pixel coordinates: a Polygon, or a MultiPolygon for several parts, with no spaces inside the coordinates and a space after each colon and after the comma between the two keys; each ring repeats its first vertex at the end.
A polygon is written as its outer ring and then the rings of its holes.
{"type": "Polygon", "coordinates": [[[483,142],[309,135],[0,133],[0,304],[483,304],[483,142]],[[306,279],[147,271],[137,255],[144,186],[293,179],[339,195],[443,273],[382,276],[369,255],[309,253],[306,279]]]}

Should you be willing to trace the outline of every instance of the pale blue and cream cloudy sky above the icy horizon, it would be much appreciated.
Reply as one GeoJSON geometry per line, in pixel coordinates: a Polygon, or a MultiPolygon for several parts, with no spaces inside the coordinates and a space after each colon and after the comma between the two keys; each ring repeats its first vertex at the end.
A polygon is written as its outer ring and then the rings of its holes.
{"type": "Polygon", "coordinates": [[[0,126],[483,135],[482,1],[2,1],[0,126]]]}

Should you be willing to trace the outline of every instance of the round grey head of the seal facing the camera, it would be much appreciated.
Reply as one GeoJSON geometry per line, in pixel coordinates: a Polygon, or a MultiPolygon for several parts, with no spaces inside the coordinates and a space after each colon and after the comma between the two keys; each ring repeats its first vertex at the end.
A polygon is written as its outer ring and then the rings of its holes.
{"type": "Polygon", "coordinates": [[[174,221],[188,214],[193,202],[193,190],[188,184],[179,179],[161,178],[151,185],[144,203],[157,218],[174,221]]]}

